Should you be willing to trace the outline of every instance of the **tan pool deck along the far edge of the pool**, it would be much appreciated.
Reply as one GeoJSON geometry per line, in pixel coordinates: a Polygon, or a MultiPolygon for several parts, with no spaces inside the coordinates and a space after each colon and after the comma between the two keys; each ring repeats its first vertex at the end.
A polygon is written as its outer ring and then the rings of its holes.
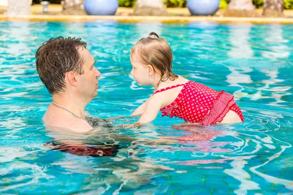
{"type": "MultiPolygon", "coordinates": [[[[195,21],[213,21],[218,23],[282,23],[293,24],[293,10],[284,10],[284,18],[240,18],[240,17],[223,17],[221,13],[216,16],[190,16],[187,8],[168,8],[170,16],[154,17],[154,16],[132,16],[133,9],[119,7],[115,16],[88,16],[88,15],[62,15],[62,6],[52,4],[49,5],[48,14],[42,13],[41,5],[31,6],[32,15],[29,16],[6,16],[6,10],[2,7],[0,21],[3,20],[29,20],[29,21],[87,21],[87,20],[116,20],[119,22],[164,22],[164,23],[188,23],[195,21]],[[179,16],[178,16],[179,15],[179,16]]],[[[221,10],[220,10],[221,12],[221,10]]],[[[256,12],[261,13],[261,9],[256,12]]]]}

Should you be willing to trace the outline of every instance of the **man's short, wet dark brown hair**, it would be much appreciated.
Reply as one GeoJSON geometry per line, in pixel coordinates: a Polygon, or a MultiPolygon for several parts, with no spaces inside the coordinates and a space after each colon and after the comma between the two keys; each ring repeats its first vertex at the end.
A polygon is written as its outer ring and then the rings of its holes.
{"type": "Polygon", "coordinates": [[[64,92],[65,73],[69,71],[83,74],[84,59],[78,49],[86,48],[82,38],[52,38],[45,41],[36,52],[36,66],[42,83],[50,94],[64,92]]]}

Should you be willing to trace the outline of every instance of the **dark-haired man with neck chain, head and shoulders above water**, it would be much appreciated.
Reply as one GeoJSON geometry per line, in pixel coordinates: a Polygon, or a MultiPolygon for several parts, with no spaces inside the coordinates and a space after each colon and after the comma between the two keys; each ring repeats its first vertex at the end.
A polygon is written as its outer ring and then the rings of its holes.
{"type": "Polygon", "coordinates": [[[39,76],[53,101],[43,116],[45,126],[87,132],[93,127],[85,106],[98,95],[94,57],[81,39],[58,37],[44,42],[36,52],[39,76]]]}

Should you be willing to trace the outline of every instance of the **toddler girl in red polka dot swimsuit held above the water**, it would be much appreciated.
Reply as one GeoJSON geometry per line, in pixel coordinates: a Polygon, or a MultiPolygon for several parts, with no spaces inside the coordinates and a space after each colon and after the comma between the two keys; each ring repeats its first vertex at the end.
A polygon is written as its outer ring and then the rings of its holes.
{"type": "Polygon", "coordinates": [[[231,94],[217,92],[208,86],[172,72],[173,55],[165,39],[150,33],[131,49],[131,75],[139,85],[151,85],[154,93],[131,116],[140,115],[139,123],[162,116],[179,117],[189,123],[213,125],[244,121],[231,94]],[[155,38],[151,36],[154,35],[155,38]]]}

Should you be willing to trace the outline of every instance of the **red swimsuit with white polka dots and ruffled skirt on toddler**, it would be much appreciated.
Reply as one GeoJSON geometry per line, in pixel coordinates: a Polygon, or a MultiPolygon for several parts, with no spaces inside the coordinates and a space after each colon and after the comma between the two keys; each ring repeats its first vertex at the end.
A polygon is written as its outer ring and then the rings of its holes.
{"type": "Polygon", "coordinates": [[[217,92],[191,80],[185,84],[157,90],[153,95],[179,86],[183,88],[177,98],[171,104],[161,108],[162,117],[179,117],[186,122],[212,125],[221,122],[229,110],[232,110],[244,121],[243,114],[231,94],[224,91],[217,92]]]}

